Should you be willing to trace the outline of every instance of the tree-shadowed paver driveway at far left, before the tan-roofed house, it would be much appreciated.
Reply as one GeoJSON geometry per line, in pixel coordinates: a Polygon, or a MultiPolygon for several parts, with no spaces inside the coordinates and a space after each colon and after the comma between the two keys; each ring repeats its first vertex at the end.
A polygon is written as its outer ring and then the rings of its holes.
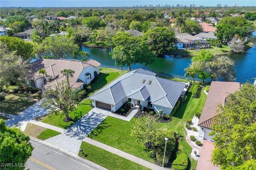
{"type": "Polygon", "coordinates": [[[20,112],[14,118],[8,119],[6,121],[6,126],[22,126],[36,117],[46,115],[48,111],[48,109],[44,109],[42,106],[40,106],[40,101],[38,101],[34,105],[20,112]]]}

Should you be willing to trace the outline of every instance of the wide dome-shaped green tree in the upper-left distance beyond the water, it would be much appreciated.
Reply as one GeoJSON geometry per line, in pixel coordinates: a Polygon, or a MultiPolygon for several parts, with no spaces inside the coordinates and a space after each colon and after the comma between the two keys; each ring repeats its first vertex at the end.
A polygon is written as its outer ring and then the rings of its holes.
{"type": "Polygon", "coordinates": [[[91,30],[106,26],[106,23],[97,16],[90,16],[84,18],[82,20],[82,24],[84,24],[84,26],[90,28],[91,30]]]}

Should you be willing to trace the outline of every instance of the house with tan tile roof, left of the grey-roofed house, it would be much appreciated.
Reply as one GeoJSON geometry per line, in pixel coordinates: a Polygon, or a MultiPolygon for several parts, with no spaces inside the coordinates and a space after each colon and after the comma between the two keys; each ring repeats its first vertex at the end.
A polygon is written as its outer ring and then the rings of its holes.
{"type": "Polygon", "coordinates": [[[70,85],[74,88],[83,88],[83,84],[90,84],[94,77],[100,74],[100,63],[93,59],[79,61],[74,59],[38,59],[30,63],[30,71],[26,77],[26,83],[30,87],[47,89],[65,79],[60,73],[64,69],[75,71],[74,76],[69,78],[70,85]],[[45,69],[47,76],[38,73],[45,69]]]}

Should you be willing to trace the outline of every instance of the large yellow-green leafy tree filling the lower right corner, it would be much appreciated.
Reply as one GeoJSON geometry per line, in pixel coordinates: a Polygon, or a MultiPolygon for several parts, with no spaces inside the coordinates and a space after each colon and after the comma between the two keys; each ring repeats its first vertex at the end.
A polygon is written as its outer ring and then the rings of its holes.
{"type": "Polygon", "coordinates": [[[256,166],[256,87],[244,84],[220,106],[211,135],[215,135],[214,164],[222,169],[256,166]]]}

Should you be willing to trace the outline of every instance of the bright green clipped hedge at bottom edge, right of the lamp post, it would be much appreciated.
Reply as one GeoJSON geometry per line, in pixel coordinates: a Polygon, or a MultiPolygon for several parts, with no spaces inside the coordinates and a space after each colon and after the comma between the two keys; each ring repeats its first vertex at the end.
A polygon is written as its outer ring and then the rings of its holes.
{"type": "Polygon", "coordinates": [[[177,158],[172,162],[173,170],[186,170],[188,167],[188,156],[183,152],[177,155],[177,158]]]}

